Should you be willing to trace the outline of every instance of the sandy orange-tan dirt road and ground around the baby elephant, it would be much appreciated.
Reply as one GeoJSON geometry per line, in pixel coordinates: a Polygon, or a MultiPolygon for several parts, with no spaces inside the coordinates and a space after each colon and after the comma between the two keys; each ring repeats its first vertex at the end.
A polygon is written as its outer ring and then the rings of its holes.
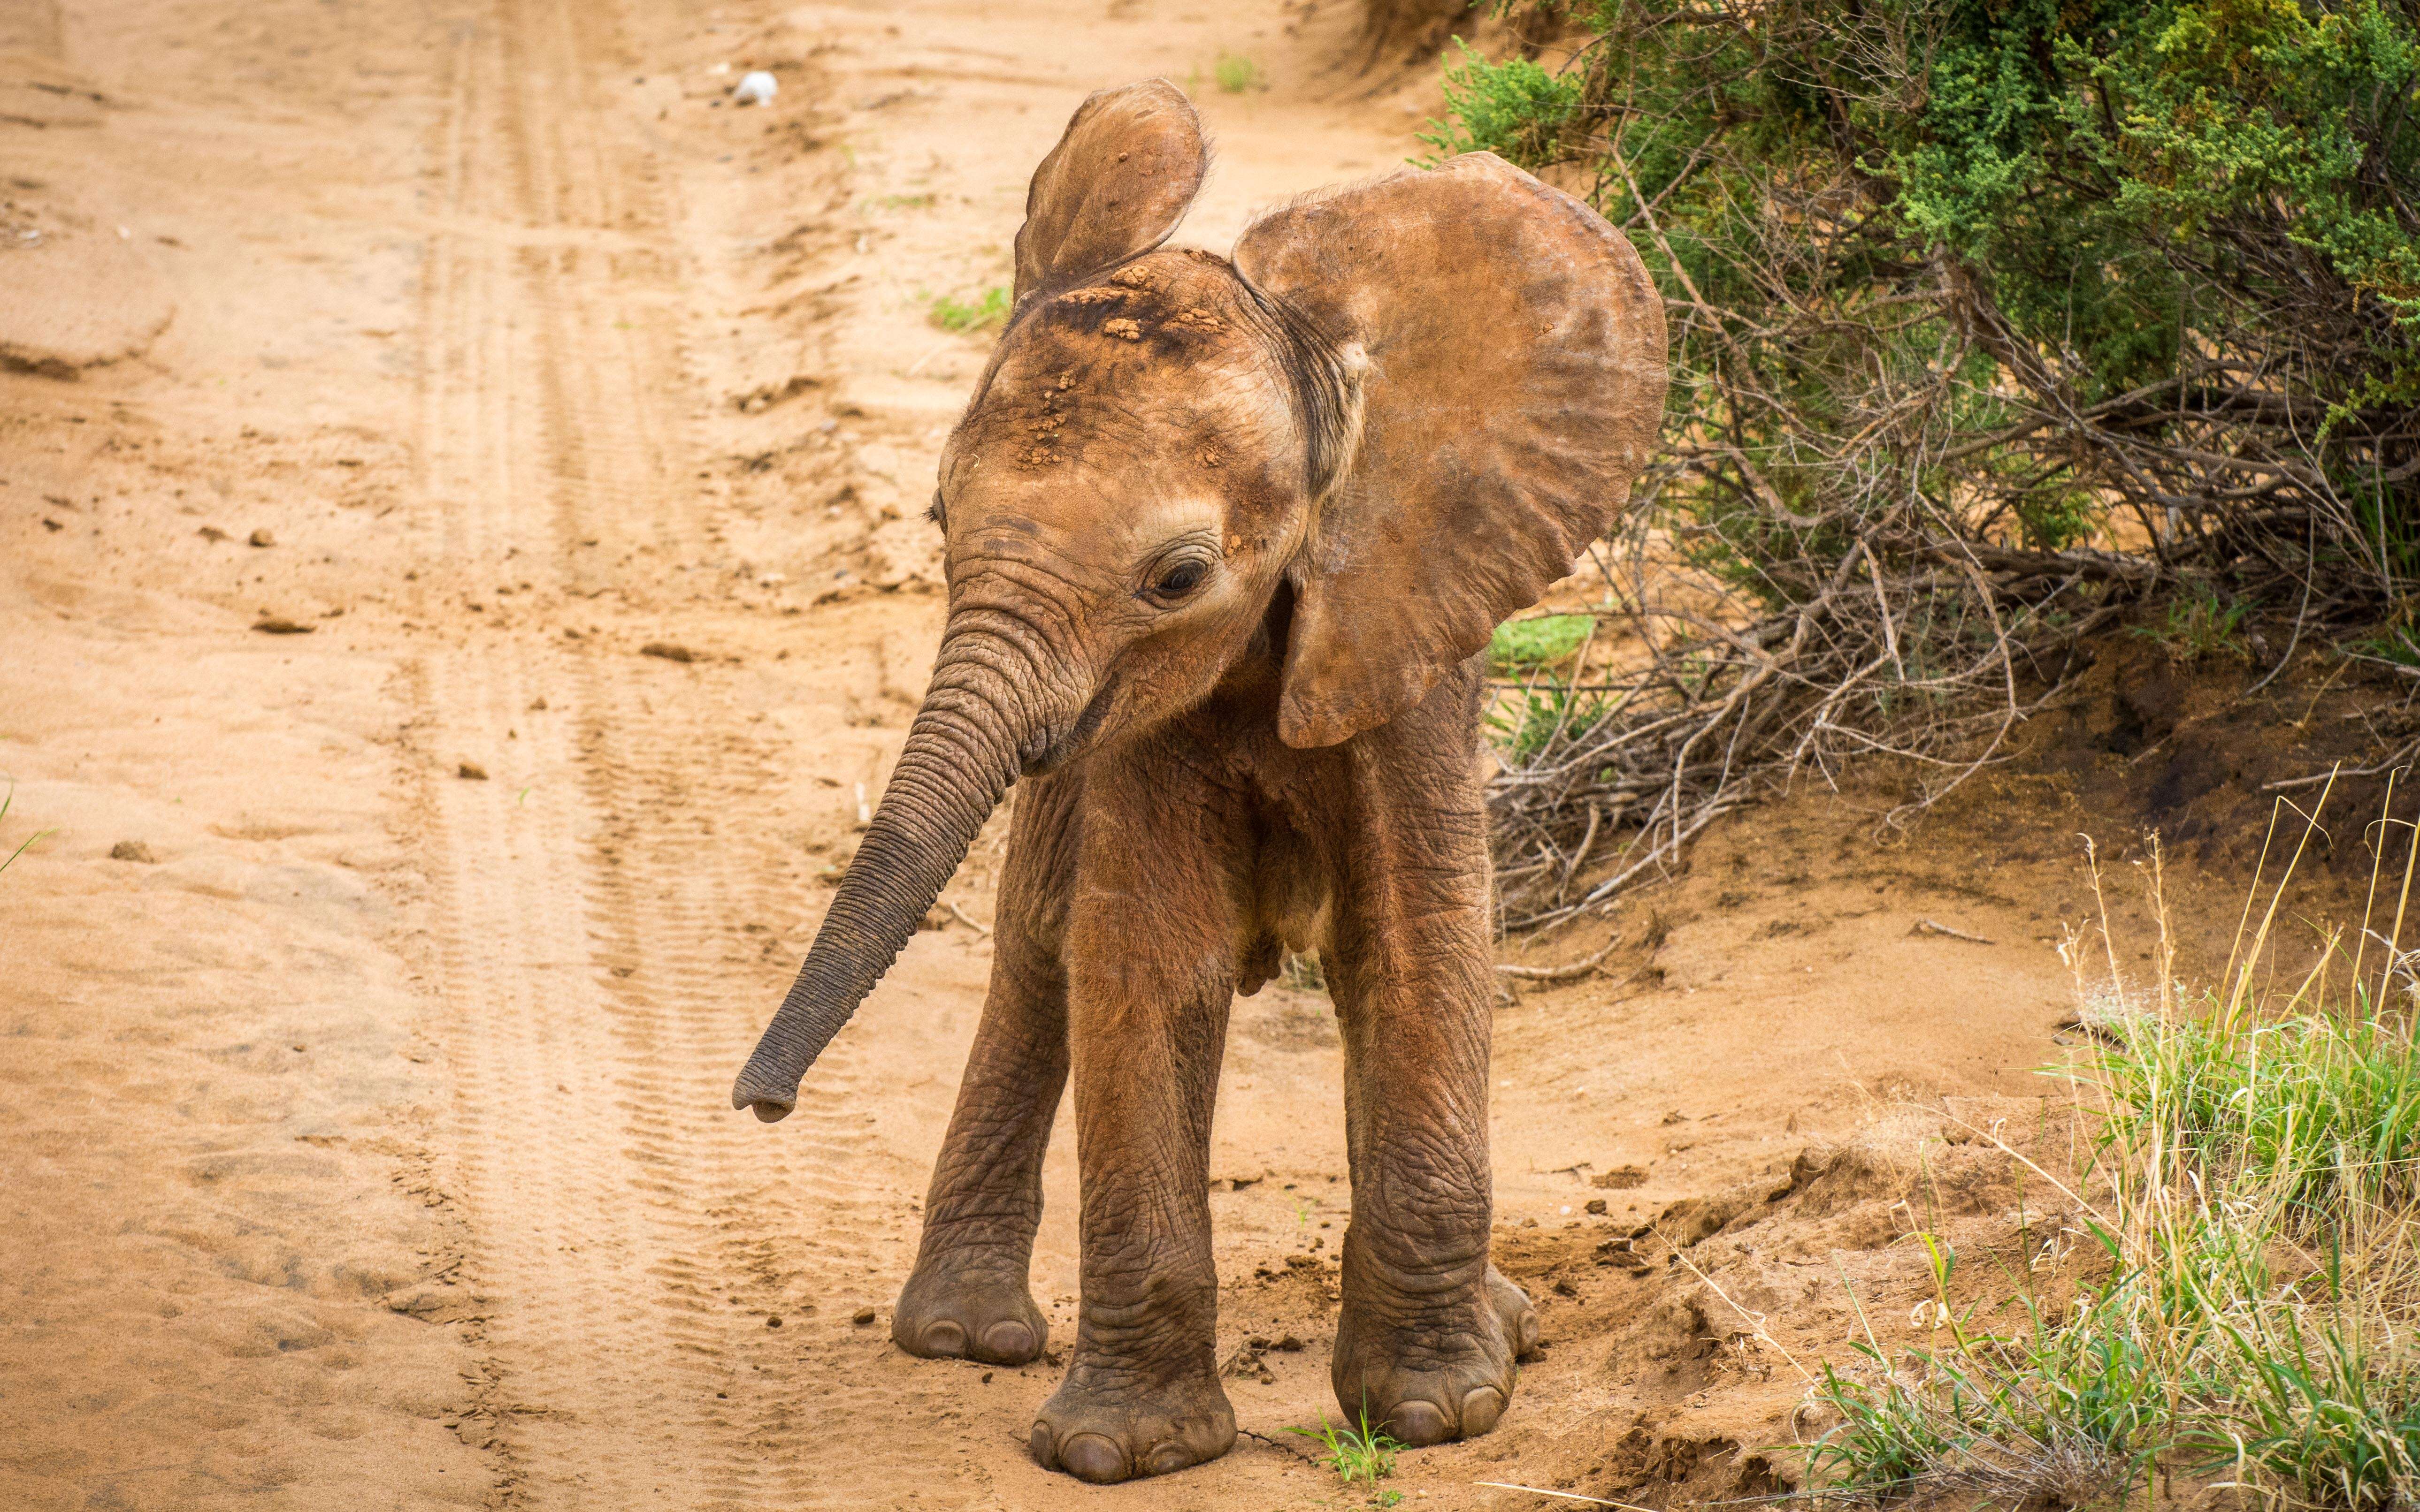
{"type": "MultiPolygon", "coordinates": [[[[0,373],[0,856],[46,830],[0,873],[0,1505],[1360,1502],[1283,1432],[1329,1408],[1346,1217],[1316,992],[1239,1004],[1246,1437],[1166,1483],[1028,1464],[1058,1350],[888,1343],[997,837],[791,1120],[726,1086],[939,629],[922,503],[985,336],[932,300],[1007,281],[1091,87],[1195,87],[1181,240],[1225,247],[1416,152],[1418,80],[1336,68],[1333,0],[10,5],[0,300],[90,319],[0,373]],[[1208,82],[1229,51],[1268,87],[1208,82]],[[750,68],[767,109],[726,104],[750,68]]],[[[2052,902],[1820,813],[1709,847],[1619,922],[1634,970],[1498,1021],[1556,1347],[1411,1500],[1614,1485],[1646,1389],[1607,1340],[1653,1297],[1607,1234],[1876,1098],[2030,1091],[2052,902]],[[1946,910],[2001,943],[1909,934],[1946,910]]],[[[1067,1139],[1048,1193],[1062,1345],[1067,1139]]]]}

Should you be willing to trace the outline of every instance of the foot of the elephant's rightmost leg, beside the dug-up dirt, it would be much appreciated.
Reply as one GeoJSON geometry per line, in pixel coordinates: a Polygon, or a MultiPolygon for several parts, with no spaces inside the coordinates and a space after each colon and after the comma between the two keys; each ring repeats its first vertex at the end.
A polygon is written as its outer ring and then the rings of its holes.
{"type": "Polygon", "coordinates": [[[1517,1355],[1537,1350],[1529,1297],[1493,1265],[1459,1294],[1346,1289],[1336,1323],[1336,1406],[1348,1422],[1370,1415],[1413,1449],[1476,1439],[1496,1427],[1520,1379],[1517,1355]]]}

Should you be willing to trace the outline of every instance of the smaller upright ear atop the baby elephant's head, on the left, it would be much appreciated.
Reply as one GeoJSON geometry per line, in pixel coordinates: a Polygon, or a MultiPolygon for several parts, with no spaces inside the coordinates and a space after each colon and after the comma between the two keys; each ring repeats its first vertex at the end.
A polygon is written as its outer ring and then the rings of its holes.
{"type": "Polygon", "coordinates": [[[1176,85],[1091,94],[1033,169],[1016,230],[1016,300],[1166,242],[1208,169],[1200,116],[1176,85]]]}

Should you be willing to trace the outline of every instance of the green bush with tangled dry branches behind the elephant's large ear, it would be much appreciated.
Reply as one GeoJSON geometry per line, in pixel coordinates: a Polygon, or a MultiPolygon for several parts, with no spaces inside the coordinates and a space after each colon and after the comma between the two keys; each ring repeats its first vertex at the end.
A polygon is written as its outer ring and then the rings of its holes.
{"type": "Polygon", "coordinates": [[[1663,660],[1498,791],[1503,871],[1868,752],[1929,803],[2079,636],[2420,622],[2420,0],[1515,10],[1585,46],[1457,53],[1425,140],[1624,230],[1672,389],[1614,554],[1663,660]]]}

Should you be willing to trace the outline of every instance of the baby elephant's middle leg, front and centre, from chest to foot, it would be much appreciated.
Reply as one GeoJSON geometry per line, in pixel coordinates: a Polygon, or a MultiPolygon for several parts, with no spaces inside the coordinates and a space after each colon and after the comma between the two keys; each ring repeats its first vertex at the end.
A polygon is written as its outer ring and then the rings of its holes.
{"type": "Polygon", "coordinates": [[[1208,1195],[1234,927],[1217,856],[1183,842],[1208,827],[1203,815],[1162,813],[1150,844],[1125,825],[1087,827],[1128,844],[1099,847],[1116,852],[1106,856],[1087,844],[1070,929],[1084,1297],[1067,1379],[1033,1422],[1033,1459],[1101,1483],[1234,1447],[1208,1195]]]}

